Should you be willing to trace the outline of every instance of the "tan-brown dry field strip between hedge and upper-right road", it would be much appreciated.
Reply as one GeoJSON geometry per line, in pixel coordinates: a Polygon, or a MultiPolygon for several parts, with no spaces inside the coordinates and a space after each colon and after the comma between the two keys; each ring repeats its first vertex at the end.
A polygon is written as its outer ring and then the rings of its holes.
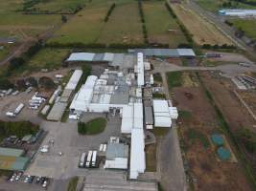
{"type": "Polygon", "coordinates": [[[214,25],[204,20],[195,11],[187,9],[184,5],[172,4],[172,8],[179,20],[193,34],[193,39],[198,45],[232,44],[229,38],[221,33],[214,25]]]}

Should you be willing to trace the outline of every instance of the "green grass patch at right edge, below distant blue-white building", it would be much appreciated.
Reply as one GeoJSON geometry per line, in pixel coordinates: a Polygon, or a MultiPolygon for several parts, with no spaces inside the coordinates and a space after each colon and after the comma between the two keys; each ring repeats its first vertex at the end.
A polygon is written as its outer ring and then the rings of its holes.
{"type": "Polygon", "coordinates": [[[234,24],[234,27],[244,30],[245,35],[256,40],[256,20],[255,19],[232,19],[230,20],[234,24]]]}

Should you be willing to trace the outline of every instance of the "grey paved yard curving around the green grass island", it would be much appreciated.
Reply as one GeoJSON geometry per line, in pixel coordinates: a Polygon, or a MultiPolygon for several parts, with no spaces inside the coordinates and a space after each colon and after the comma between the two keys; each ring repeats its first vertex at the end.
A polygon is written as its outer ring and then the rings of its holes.
{"type": "MultiPolygon", "coordinates": [[[[85,115],[82,120],[99,117],[99,115],[93,115],[85,115]]],[[[48,135],[42,145],[50,145],[49,153],[38,152],[25,173],[57,180],[84,175],[87,170],[78,168],[81,152],[87,152],[90,149],[98,150],[99,145],[111,136],[120,136],[120,126],[120,118],[110,118],[103,133],[96,136],[80,136],[75,121],[68,123],[43,121],[41,128],[48,131],[48,135]],[[49,144],[51,139],[54,140],[53,144],[49,144]],[[58,155],[59,152],[62,152],[62,156],[58,155]]]]}

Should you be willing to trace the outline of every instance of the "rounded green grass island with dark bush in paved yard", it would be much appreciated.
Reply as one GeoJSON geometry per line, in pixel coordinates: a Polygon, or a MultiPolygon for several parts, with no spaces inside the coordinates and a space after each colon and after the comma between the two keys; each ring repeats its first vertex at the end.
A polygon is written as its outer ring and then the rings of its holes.
{"type": "Polygon", "coordinates": [[[105,130],[106,119],[104,117],[94,118],[87,123],[79,122],[78,131],[81,135],[97,135],[105,130]]]}

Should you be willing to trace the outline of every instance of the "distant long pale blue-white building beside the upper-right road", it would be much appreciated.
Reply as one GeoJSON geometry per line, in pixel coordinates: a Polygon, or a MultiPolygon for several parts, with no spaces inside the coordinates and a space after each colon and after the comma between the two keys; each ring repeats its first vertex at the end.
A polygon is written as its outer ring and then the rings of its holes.
{"type": "Polygon", "coordinates": [[[222,16],[251,17],[256,16],[256,10],[220,10],[222,16]]]}

